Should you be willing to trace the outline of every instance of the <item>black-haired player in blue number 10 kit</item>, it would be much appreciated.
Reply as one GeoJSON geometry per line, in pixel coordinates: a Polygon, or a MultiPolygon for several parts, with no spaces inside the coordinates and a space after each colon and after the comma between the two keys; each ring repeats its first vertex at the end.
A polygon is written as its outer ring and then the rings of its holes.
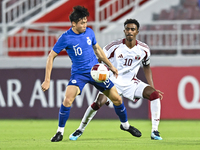
{"type": "Polygon", "coordinates": [[[126,108],[112,81],[108,79],[104,83],[97,83],[90,75],[90,70],[98,63],[98,59],[103,61],[116,77],[118,70],[107,59],[96,42],[93,30],[87,27],[88,16],[89,12],[85,7],[76,6],[73,8],[73,12],[69,16],[72,27],[60,36],[47,58],[45,80],[41,85],[43,91],[48,90],[50,86],[53,60],[58,53],[66,49],[72,61],[70,81],[59,110],[57,133],[51,138],[51,141],[58,142],[63,139],[64,127],[69,118],[71,105],[75,97],[81,94],[86,83],[94,85],[113,102],[115,112],[121,121],[121,129],[128,131],[133,136],[140,137],[141,132],[128,123],[126,108]]]}

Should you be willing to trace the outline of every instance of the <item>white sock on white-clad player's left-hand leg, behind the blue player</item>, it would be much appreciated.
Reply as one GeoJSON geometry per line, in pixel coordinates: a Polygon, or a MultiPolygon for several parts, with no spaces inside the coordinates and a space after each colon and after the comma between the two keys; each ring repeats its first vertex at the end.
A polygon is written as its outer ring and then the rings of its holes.
{"type": "Polygon", "coordinates": [[[96,115],[97,110],[92,109],[91,106],[89,106],[83,116],[83,119],[80,123],[80,126],[78,127],[79,130],[82,132],[85,130],[86,126],[89,124],[89,122],[92,120],[92,118],[96,115]]]}

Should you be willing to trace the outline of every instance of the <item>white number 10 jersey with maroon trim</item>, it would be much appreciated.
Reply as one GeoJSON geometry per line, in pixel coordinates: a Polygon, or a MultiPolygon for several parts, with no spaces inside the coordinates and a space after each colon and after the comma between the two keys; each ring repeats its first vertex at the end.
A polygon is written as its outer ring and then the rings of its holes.
{"type": "Polygon", "coordinates": [[[130,85],[133,79],[137,79],[136,75],[141,62],[143,65],[150,63],[150,49],[139,40],[136,40],[136,45],[131,49],[125,45],[125,39],[120,39],[106,45],[103,50],[118,69],[118,77],[111,75],[110,79],[120,86],[130,85]]]}

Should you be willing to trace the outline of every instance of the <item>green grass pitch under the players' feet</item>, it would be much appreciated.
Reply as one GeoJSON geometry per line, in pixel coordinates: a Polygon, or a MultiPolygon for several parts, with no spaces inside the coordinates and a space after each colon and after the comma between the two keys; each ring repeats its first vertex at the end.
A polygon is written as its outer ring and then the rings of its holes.
{"type": "Polygon", "coordinates": [[[118,120],[93,120],[77,141],[69,135],[80,120],[69,119],[61,142],[50,142],[57,120],[0,120],[0,150],[199,150],[200,120],[161,120],[162,141],[150,139],[150,120],[129,120],[142,132],[120,130],[118,120]]]}

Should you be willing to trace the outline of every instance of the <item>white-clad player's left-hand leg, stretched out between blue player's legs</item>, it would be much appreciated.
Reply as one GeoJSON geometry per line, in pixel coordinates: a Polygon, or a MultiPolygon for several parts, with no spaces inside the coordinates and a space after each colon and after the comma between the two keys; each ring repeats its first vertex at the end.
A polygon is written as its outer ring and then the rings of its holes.
{"type": "Polygon", "coordinates": [[[107,101],[107,97],[104,94],[99,92],[94,103],[91,106],[88,106],[78,129],[69,136],[70,140],[75,141],[83,134],[86,126],[89,124],[89,122],[97,113],[97,110],[101,106],[103,106],[106,103],[106,101],[107,101]]]}

